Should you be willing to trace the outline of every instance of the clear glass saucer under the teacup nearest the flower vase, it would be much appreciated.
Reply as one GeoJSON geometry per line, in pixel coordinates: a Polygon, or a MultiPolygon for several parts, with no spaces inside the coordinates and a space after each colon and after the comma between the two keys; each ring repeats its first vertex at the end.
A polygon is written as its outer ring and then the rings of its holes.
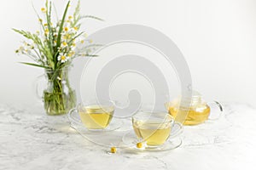
{"type": "Polygon", "coordinates": [[[117,130],[121,127],[122,121],[117,120],[113,117],[112,121],[109,123],[108,127],[103,129],[88,129],[84,126],[83,122],[80,120],[79,112],[75,109],[69,111],[68,119],[71,122],[71,126],[82,133],[107,133],[117,130]]]}

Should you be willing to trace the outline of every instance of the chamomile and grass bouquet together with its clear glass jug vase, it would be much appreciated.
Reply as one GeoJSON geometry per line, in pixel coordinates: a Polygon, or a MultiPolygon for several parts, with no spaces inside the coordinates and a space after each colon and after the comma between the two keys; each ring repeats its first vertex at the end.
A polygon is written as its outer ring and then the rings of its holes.
{"type": "Polygon", "coordinates": [[[34,63],[21,62],[25,65],[42,67],[46,71],[46,76],[50,83],[50,90],[44,90],[44,107],[48,114],[62,114],[75,105],[74,92],[69,86],[67,79],[67,67],[72,60],[78,56],[95,56],[90,52],[99,44],[93,44],[91,40],[86,40],[83,31],[79,31],[80,20],[91,18],[101,20],[91,15],[80,15],[80,1],[74,10],[73,15],[68,15],[70,1],[67,2],[61,20],[55,24],[52,21],[52,3],[46,0],[45,8],[41,8],[43,17],[38,14],[40,31],[31,33],[30,31],[16,30],[27,41],[15,52],[26,54],[34,63]],[[83,43],[88,43],[81,45],[83,43]],[[77,48],[83,47],[83,48],[77,48]]]}

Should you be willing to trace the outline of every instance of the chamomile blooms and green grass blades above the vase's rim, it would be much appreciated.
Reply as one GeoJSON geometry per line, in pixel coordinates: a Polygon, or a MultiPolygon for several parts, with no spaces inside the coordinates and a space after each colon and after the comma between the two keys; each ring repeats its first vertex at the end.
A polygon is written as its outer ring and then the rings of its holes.
{"type": "Polygon", "coordinates": [[[101,20],[91,15],[80,15],[79,5],[80,1],[73,15],[67,16],[67,10],[70,8],[70,1],[68,1],[62,19],[54,25],[51,19],[52,3],[47,0],[45,8],[41,8],[45,22],[38,14],[38,20],[41,26],[40,31],[31,33],[30,31],[13,29],[29,40],[29,42],[23,42],[23,46],[15,52],[26,54],[37,63],[23,62],[23,64],[56,70],[70,64],[74,57],[94,56],[90,55],[90,51],[99,46],[98,44],[89,44],[88,46],[84,46],[84,48],[74,50],[77,43],[92,42],[91,40],[84,40],[86,34],[83,31],[79,31],[81,26],[79,21],[84,18],[101,20]],[[84,37],[84,39],[81,37],[84,37]]]}

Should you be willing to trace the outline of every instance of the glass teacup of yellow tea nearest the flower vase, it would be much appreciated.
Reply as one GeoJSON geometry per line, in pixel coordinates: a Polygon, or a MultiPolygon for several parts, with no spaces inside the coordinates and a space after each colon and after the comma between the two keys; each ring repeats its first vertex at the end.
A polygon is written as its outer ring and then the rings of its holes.
{"type": "Polygon", "coordinates": [[[105,129],[113,118],[114,105],[112,101],[90,101],[80,103],[74,111],[79,112],[80,120],[87,129],[105,129]]]}

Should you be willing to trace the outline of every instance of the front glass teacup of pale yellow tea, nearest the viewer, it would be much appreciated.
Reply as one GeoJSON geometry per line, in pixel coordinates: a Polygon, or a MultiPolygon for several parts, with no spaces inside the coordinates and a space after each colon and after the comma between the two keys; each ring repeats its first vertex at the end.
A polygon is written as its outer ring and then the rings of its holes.
{"type": "Polygon", "coordinates": [[[139,111],[132,116],[132,126],[137,139],[148,147],[165,144],[172,131],[173,117],[167,112],[139,111]]]}

